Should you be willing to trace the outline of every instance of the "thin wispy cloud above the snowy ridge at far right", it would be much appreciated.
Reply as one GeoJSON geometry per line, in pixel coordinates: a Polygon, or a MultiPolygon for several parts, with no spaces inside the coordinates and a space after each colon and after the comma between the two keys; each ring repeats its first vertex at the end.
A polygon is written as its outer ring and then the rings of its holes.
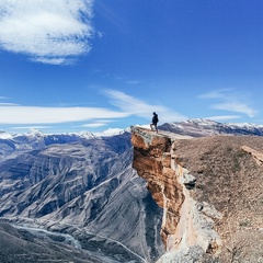
{"type": "MultiPolygon", "coordinates": [[[[249,117],[254,117],[258,112],[250,105],[245,96],[247,95],[241,94],[241,92],[236,93],[230,89],[221,89],[202,94],[198,98],[216,101],[210,104],[210,108],[236,112],[245,114],[249,117]]],[[[233,116],[231,118],[233,118],[233,116]]]]}

